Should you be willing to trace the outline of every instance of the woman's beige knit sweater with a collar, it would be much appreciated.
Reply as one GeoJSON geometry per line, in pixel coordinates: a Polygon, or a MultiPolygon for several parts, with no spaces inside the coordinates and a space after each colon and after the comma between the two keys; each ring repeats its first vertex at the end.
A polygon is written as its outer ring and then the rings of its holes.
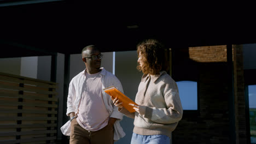
{"type": "Polygon", "coordinates": [[[133,133],[139,135],[167,135],[177,127],[183,115],[176,82],[166,71],[160,75],[143,75],[139,83],[135,103],[146,107],[146,114],[120,112],[135,118],[133,133]]]}

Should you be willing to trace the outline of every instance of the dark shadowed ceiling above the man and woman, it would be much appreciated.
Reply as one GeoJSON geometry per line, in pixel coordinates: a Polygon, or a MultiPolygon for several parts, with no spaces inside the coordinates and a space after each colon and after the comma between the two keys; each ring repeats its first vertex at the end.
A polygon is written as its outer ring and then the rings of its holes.
{"type": "Polygon", "coordinates": [[[90,44],[102,52],[129,51],[146,38],[160,39],[172,48],[256,43],[255,13],[238,10],[132,1],[5,6],[0,7],[0,57],[80,53],[90,44]]]}

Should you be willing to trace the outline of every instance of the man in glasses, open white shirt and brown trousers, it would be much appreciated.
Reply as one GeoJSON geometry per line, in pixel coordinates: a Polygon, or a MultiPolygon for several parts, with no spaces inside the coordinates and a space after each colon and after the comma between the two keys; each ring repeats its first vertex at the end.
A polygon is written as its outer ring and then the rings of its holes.
{"type": "Polygon", "coordinates": [[[113,105],[103,88],[123,87],[115,75],[101,68],[102,54],[95,45],[82,50],[85,70],[69,83],[67,116],[61,127],[64,135],[70,135],[70,143],[114,143],[125,135],[119,121],[123,114],[113,105]]]}

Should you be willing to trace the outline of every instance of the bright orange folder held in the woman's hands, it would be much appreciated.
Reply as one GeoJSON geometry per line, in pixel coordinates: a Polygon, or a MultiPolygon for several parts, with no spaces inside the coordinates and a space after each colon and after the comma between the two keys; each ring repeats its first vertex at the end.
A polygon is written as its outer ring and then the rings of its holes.
{"type": "Polygon", "coordinates": [[[135,105],[137,105],[137,104],[134,101],[132,101],[130,98],[128,98],[125,94],[120,92],[116,87],[110,86],[110,87],[104,88],[103,90],[104,90],[104,92],[106,92],[107,94],[112,96],[113,98],[118,98],[119,102],[123,102],[123,104],[121,104],[121,105],[126,110],[128,110],[131,113],[135,112],[135,110],[133,109],[133,106],[131,106],[129,104],[135,104],[135,105]]]}

